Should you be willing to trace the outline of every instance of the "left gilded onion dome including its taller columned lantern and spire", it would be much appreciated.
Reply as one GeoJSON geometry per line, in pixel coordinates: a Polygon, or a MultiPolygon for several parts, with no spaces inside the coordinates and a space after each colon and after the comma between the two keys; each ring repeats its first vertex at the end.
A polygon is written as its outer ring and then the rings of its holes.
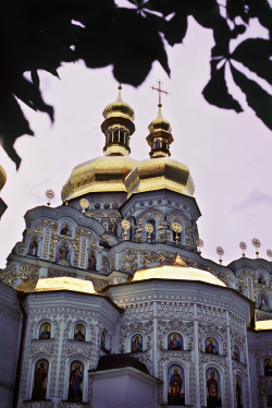
{"type": "Polygon", "coordinates": [[[103,110],[101,124],[106,136],[104,155],[76,166],[62,189],[62,200],[70,201],[92,192],[126,192],[125,177],[138,160],[131,158],[129,139],[135,131],[134,110],[121,97],[103,110]]]}

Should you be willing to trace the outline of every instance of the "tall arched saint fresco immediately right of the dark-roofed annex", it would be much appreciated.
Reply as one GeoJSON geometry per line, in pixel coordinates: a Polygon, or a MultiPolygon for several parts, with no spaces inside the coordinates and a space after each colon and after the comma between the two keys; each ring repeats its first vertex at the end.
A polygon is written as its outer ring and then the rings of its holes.
{"type": "Polygon", "coordinates": [[[168,404],[185,405],[184,370],[177,364],[170,365],[168,370],[168,404]]]}

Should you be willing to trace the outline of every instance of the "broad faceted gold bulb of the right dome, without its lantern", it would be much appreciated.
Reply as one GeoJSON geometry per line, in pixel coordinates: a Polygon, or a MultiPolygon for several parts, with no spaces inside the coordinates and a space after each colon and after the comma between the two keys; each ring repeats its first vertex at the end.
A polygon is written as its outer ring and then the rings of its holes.
{"type": "Polygon", "coordinates": [[[187,166],[169,157],[143,160],[126,177],[125,187],[133,193],[168,189],[185,195],[193,195],[195,184],[187,166]]]}

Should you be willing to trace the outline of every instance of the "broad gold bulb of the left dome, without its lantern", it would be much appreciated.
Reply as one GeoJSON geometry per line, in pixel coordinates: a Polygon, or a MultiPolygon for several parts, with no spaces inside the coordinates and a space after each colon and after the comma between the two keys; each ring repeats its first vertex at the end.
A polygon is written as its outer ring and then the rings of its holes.
{"type": "Polygon", "coordinates": [[[95,192],[126,192],[124,179],[137,164],[128,156],[101,156],[83,163],[73,169],[61,197],[69,201],[95,192]]]}

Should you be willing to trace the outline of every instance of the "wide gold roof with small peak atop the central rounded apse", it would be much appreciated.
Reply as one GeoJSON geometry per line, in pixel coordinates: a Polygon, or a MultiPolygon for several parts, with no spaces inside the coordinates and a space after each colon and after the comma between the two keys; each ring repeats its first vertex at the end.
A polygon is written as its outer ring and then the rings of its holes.
{"type": "Polygon", "coordinates": [[[222,280],[209,272],[187,266],[177,254],[168,264],[136,271],[132,277],[132,281],[148,279],[194,280],[226,287],[222,280]]]}

